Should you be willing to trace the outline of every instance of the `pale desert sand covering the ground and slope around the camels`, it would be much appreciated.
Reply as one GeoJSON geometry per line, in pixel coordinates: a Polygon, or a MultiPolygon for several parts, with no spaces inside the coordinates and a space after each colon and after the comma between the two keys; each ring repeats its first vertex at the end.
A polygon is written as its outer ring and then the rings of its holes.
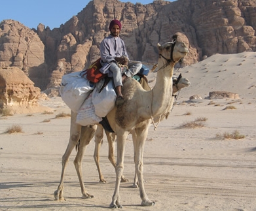
{"type": "MultiPolygon", "coordinates": [[[[191,81],[180,91],[167,120],[153,125],[144,152],[145,189],[155,206],[140,206],[134,178],[132,137],[126,142],[120,195],[122,210],[194,211],[256,210],[256,53],[214,55],[179,69],[191,81]],[[210,91],[238,93],[240,99],[207,99],[210,91]],[[191,100],[192,95],[202,99],[191,100]],[[225,109],[227,106],[236,109],[225,109]],[[204,127],[181,127],[202,118],[204,127]],[[217,134],[238,131],[244,138],[223,139],[217,134]]],[[[155,74],[149,74],[153,79],[155,74]]],[[[65,172],[65,201],[55,201],[62,155],[69,141],[70,118],[56,118],[69,108],[60,97],[41,101],[52,114],[15,114],[0,118],[0,210],[110,210],[115,169],[107,159],[107,140],[101,147],[99,183],[94,163],[94,140],[83,160],[84,184],[93,199],[82,199],[71,154],[65,172]],[[48,120],[48,121],[46,121],[48,120]],[[5,133],[20,125],[23,133],[5,133]]]]}

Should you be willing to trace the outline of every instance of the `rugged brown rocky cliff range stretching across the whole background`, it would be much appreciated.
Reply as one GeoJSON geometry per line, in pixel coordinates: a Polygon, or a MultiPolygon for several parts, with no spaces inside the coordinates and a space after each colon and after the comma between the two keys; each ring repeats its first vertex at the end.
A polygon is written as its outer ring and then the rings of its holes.
{"type": "Polygon", "coordinates": [[[18,67],[42,90],[58,87],[64,74],[81,71],[100,56],[109,22],[122,23],[130,59],[156,63],[156,44],[189,43],[190,65],[213,54],[256,51],[255,0],[178,0],[122,3],[93,0],[60,28],[29,29],[14,20],[0,23],[0,68],[18,67]]]}

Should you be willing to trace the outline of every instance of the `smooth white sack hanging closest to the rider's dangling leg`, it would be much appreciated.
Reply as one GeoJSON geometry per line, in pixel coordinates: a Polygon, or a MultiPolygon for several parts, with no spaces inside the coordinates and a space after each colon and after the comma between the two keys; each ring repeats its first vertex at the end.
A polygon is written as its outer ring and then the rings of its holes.
{"type": "Polygon", "coordinates": [[[95,114],[100,117],[105,117],[115,107],[117,94],[113,87],[112,80],[101,90],[96,86],[92,91],[92,103],[95,107],[95,114]]]}

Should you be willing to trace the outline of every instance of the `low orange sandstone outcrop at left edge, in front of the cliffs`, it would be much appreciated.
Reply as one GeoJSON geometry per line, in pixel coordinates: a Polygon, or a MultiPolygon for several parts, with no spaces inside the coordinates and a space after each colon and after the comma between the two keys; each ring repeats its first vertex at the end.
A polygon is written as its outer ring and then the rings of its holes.
{"type": "Polygon", "coordinates": [[[0,108],[37,106],[41,90],[18,67],[0,69],[0,108]]]}

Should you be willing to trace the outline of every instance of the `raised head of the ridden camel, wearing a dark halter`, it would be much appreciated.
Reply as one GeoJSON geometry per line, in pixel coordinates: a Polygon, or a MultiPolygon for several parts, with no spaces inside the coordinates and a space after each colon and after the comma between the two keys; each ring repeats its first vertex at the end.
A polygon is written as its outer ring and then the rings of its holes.
{"type": "Polygon", "coordinates": [[[189,53],[185,42],[177,41],[177,36],[173,36],[172,42],[166,42],[162,45],[157,44],[159,57],[163,57],[168,63],[177,63],[189,53]]]}

